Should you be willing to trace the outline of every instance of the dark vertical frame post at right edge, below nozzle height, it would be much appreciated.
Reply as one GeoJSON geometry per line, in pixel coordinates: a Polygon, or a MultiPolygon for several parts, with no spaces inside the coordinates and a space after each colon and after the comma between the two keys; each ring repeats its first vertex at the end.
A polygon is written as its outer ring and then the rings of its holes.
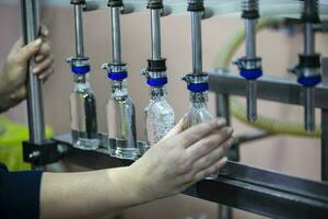
{"type": "Polygon", "coordinates": [[[321,110],[321,180],[328,181],[328,111],[321,110]]]}

